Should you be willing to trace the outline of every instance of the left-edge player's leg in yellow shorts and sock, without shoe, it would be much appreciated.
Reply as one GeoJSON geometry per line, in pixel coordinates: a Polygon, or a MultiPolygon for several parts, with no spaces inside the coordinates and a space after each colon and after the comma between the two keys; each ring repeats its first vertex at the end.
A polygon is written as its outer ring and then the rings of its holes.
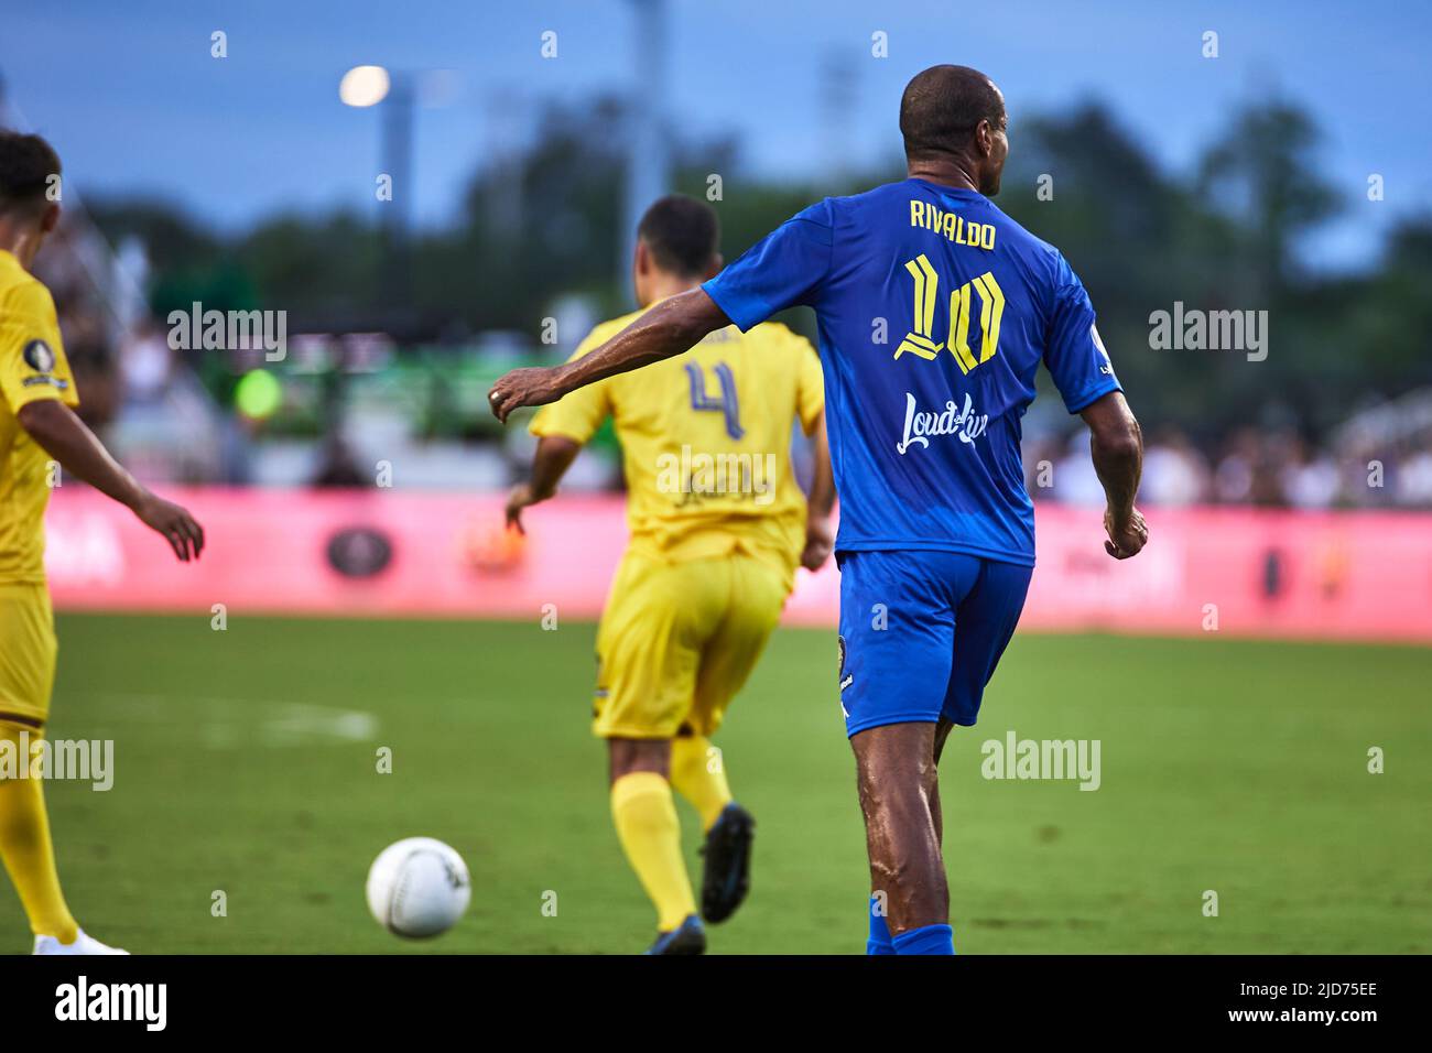
{"type": "MultiPolygon", "coordinates": [[[[43,586],[0,586],[0,749],[29,768],[44,736],[56,642],[43,586]]],[[[36,937],[73,944],[79,927],[64,904],[44,809],[44,782],[0,771],[0,858],[36,937]]],[[[26,771],[29,774],[29,771],[26,771]]]]}

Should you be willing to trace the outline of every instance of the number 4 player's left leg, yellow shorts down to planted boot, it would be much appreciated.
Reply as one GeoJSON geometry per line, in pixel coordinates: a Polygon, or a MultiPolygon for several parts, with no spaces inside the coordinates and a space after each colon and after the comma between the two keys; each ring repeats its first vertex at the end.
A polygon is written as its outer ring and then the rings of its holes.
{"type": "Polygon", "coordinates": [[[709,592],[680,564],[629,553],[597,633],[593,729],[610,744],[611,819],[656,907],[659,936],[652,950],[662,954],[699,953],[706,943],[669,775],[670,741],[695,691],[709,592]]]}

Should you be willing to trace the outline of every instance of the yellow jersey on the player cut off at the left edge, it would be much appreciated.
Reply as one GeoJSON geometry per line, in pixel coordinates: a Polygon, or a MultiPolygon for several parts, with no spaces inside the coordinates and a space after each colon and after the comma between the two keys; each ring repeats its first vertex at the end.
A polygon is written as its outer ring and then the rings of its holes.
{"type": "Polygon", "coordinates": [[[50,456],[20,427],[42,398],[79,405],[50,291],[0,251],[0,585],[44,583],[50,456]]]}

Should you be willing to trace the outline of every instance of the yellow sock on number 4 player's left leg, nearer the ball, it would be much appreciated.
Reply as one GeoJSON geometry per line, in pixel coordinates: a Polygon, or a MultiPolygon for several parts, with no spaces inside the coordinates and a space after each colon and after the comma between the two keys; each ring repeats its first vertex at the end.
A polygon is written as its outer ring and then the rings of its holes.
{"type": "Polygon", "coordinates": [[[623,775],[611,784],[611,819],[632,870],[656,904],[656,927],[672,931],[696,913],[696,900],[670,784],[650,771],[623,775]]]}

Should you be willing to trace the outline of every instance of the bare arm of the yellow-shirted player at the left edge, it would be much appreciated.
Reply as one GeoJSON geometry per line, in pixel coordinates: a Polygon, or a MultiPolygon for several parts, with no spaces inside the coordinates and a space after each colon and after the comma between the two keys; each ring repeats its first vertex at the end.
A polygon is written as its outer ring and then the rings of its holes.
{"type": "Polygon", "coordinates": [[[130,476],[70,407],[53,398],[27,403],[17,414],[30,438],[66,471],[127,507],[145,526],[163,534],[182,562],[199,559],[203,527],[186,509],[155,496],[130,476]]]}

